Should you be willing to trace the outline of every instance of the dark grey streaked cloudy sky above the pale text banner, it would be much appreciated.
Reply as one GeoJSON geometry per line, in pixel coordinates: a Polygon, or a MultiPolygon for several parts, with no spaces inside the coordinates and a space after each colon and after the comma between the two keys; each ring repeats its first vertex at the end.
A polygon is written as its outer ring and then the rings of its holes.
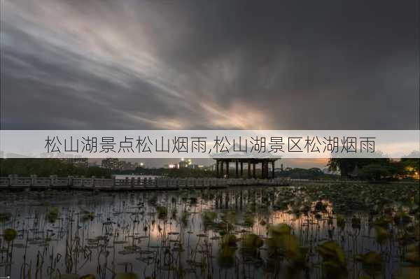
{"type": "Polygon", "coordinates": [[[6,1],[2,129],[418,129],[418,1],[6,1]]]}

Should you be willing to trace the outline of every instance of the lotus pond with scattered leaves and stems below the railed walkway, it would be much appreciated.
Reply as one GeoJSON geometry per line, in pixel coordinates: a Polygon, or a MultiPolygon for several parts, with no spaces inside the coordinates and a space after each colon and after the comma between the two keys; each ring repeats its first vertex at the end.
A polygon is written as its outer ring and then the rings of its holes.
{"type": "Polygon", "coordinates": [[[1,192],[0,276],[419,278],[419,185],[1,192]]]}

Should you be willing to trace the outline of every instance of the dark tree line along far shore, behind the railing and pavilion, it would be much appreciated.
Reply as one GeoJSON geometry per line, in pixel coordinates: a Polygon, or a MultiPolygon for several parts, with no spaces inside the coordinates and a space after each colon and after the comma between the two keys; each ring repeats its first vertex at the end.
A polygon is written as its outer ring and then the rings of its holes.
{"type": "MultiPolygon", "coordinates": [[[[420,159],[402,158],[392,160],[387,158],[359,159],[359,158],[332,158],[328,162],[330,171],[340,171],[342,178],[358,178],[367,180],[391,179],[398,176],[414,176],[419,173],[420,159]]],[[[257,170],[258,172],[259,170],[257,170]]],[[[18,176],[96,176],[110,178],[113,174],[137,174],[148,176],[168,177],[214,177],[215,171],[209,169],[147,169],[137,167],[131,171],[118,171],[104,169],[99,166],[82,167],[59,159],[0,159],[0,176],[17,174],[18,176]]],[[[231,171],[230,177],[235,177],[235,171],[231,171]]],[[[300,178],[300,179],[328,179],[337,178],[325,174],[321,169],[287,169],[276,171],[276,177],[300,178]]]]}

